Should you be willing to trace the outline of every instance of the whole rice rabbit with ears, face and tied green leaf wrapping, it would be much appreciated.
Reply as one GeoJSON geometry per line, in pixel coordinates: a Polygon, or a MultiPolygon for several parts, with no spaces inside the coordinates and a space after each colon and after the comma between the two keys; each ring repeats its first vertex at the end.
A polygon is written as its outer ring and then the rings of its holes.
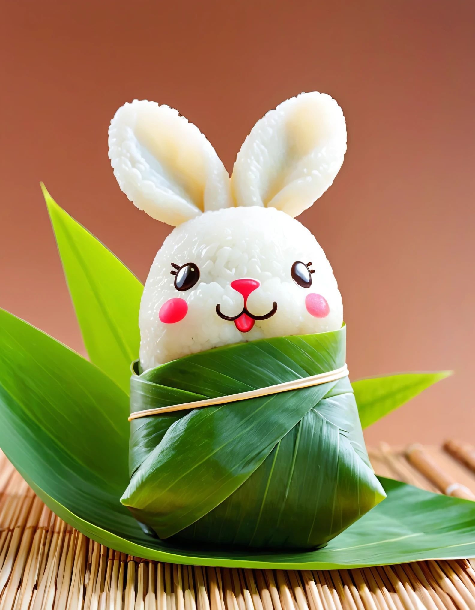
{"type": "Polygon", "coordinates": [[[342,165],[342,110],[316,92],[283,102],[253,127],[231,179],[197,127],[153,102],[118,110],[109,147],[128,198],[175,225],[141,301],[122,504],[180,544],[322,547],[385,497],[337,282],[294,218],[342,165]],[[321,375],[336,376],[308,385],[321,375]]]}

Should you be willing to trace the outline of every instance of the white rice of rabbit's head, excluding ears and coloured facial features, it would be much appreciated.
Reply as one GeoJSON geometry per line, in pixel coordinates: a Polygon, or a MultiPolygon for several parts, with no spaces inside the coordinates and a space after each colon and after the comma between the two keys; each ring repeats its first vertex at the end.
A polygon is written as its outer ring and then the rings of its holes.
{"type": "Polygon", "coordinates": [[[334,331],[342,326],[343,305],[336,279],[323,249],[298,220],[273,207],[230,207],[205,212],[177,226],[166,238],[153,261],[142,295],[139,326],[140,362],[144,370],[164,362],[220,345],[264,337],[334,331]],[[306,289],[292,279],[295,261],[312,262],[312,285],[306,289]],[[192,262],[200,279],[191,289],[174,287],[172,263],[192,262]],[[231,288],[233,280],[253,278],[260,282],[248,300],[254,315],[278,309],[267,320],[256,320],[249,332],[240,332],[233,321],[216,313],[234,316],[244,306],[242,295],[231,288]],[[325,297],[329,314],[309,314],[309,293],[325,297]],[[169,299],[182,298],[188,312],[176,323],[160,321],[158,312],[169,299]]]}

